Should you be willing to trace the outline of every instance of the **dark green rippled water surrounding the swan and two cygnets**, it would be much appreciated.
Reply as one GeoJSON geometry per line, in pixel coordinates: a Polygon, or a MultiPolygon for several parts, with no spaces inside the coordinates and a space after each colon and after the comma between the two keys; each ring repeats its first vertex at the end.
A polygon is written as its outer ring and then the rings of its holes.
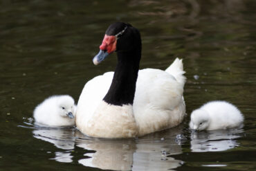
{"type": "Polygon", "coordinates": [[[0,1],[0,170],[256,170],[256,1],[0,1]],[[113,71],[93,66],[114,21],[136,26],[140,68],[183,58],[188,116],[179,127],[136,140],[98,140],[73,128],[34,127],[44,98],[69,94],[113,71]],[[228,100],[245,116],[238,130],[191,133],[190,113],[228,100]]]}

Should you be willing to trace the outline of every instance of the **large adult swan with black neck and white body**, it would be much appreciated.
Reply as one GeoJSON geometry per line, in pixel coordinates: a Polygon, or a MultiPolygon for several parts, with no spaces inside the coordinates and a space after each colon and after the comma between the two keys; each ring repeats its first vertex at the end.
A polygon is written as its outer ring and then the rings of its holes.
{"type": "Polygon", "coordinates": [[[159,69],[139,69],[139,31],[122,22],[107,29],[98,64],[116,51],[116,71],[99,75],[84,85],[77,103],[75,124],[87,136],[130,138],[179,125],[185,116],[183,63],[159,69]],[[138,80],[137,80],[138,78],[138,80]]]}

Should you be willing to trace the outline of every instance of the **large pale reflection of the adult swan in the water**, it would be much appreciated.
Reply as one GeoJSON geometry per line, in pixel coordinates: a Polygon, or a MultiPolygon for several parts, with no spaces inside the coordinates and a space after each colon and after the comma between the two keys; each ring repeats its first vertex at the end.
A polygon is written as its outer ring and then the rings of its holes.
{"type": "Polygon", "coordinates": [[[84,154],[78,162],[82,165],[103,170],[171,170],[181,165],[182,161],[170,155],[181,154],[181,146],[175,141],[181,134],[182,127],[149,134],[138,139],[83,139],[76,141],[77,147],[95,150],[84,154]]]}

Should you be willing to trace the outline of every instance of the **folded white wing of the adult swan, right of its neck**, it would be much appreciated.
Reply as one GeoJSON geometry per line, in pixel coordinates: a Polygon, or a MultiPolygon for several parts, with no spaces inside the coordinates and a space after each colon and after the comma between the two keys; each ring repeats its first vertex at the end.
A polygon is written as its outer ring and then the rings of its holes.
{"type": "Polygon", "coordinates": [[[134,116],[140,136],[179,125],[185,116],[183,83],[159,69],[139,71],[134,116]]]}

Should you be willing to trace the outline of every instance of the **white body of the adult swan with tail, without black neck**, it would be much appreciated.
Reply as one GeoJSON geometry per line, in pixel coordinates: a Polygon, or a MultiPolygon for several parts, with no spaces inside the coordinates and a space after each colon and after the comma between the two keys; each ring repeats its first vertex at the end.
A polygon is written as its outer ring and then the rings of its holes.
{"type": "Polygon", "coordinates": [[[77,103],[77,128],[89,136],[129,138],[179,125],[185,116],[183,73],[183,63],[178,58],[166,71],[138,71],[134,103],[122,106],[102,100],[113,72],[93,78],[85,84],[77,103]]]}

